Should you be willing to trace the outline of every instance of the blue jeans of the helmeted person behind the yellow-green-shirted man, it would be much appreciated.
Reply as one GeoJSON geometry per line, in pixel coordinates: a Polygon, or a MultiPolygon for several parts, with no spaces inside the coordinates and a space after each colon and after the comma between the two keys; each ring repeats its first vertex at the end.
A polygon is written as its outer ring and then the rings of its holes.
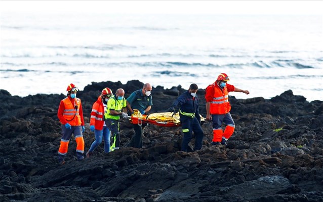
{"type": "Polygon", "coordinates": [[[95,141],[92,143],[89,151],[93,152],[102,142],[102,137],[104,138],[104,152],[108,153],[110,151],[110,131],[104,126],[102,130],[94,130],[95,141]]]}

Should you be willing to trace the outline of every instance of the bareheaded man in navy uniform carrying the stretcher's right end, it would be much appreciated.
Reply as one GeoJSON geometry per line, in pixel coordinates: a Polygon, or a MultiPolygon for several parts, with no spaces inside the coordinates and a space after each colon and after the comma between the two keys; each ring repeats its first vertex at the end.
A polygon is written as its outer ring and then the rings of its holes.
{"type": "Polygon", "coordinates": [[[196,92],[198,87],[196,84],[191,84],[189,89],[180,95],[173,105],[169,108],[170,112],[175,111],[175,107],[179,105],[180,122],[182,125],[182,132],[184,134],[182,140],[182,151],[187,152],[188,143],[192,139],[192,132],[195,135],[195,145],[193,150],[202,148],[202,141],[204,137],[201,129],[201,121],[198,110],[198,97],[196,92]]]}

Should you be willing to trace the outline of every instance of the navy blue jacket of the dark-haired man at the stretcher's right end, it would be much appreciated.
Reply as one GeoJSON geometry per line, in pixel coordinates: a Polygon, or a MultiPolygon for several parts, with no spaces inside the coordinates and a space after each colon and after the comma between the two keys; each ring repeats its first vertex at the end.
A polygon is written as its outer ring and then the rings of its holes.
{"type": "MultiPolygon", "coordinates": [[[[199,116],[199,111],[198,111],[198,97],[197,95],[195,96],[194,100],[191,94],[186,91],[182,95],[180,95],[177,100],[174,101],[173,106],[180,107],[180,110],[182,112],[186,113],[195,113],[195,117],[197,118],[198,121],[200,121],[200,116],[199,116]]],[[[180,115],[182,115],[180,113],[180,115]]]]}

